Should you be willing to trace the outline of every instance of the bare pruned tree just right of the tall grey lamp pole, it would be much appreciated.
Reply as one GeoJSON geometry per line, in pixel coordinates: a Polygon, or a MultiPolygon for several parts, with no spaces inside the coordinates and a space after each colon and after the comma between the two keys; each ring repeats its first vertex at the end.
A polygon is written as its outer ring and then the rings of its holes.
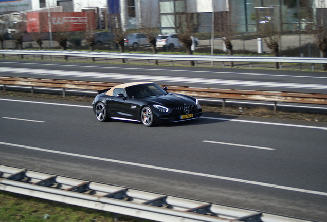
{"type": "MultiPolygon", "coordinates": [[[[238,13],[235,8],[236,7],[229,4],[229,11],[215,12],[214,15],[214,30],[217,35],[222,38],[229,55],[233,55],[232,40],[236,33],[239,20],[238,13]]],[[[230,62],[230,67],[233,66],[234,63],[230,62]]]]}

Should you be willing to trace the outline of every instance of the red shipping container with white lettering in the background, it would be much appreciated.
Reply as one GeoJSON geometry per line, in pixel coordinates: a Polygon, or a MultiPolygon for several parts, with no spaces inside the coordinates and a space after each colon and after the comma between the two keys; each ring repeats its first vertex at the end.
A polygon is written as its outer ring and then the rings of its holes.
{"type": "MultiPolygon", "coordinates": [[[[27,32],[49,32],[47,12],[27,13],[27,32]]],[[[51,32],[87,31],[96,28],[94,12],[51,12],[51,32]]]]}

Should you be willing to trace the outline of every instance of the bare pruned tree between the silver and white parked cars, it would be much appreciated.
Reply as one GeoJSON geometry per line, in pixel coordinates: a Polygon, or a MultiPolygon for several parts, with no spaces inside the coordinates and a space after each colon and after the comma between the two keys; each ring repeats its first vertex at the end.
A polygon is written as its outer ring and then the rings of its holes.
{"type": "MultiPolygon", "coordinates": [[[[152,53],[157,54],[156,48],[156,36],[159,34],[159,17],[157,13],[158,9],[155,8],[155,5],[149,4],[147,8],[142,12],[142,20],[140,31],[147,35],[148,42],[150,43],[152,53]]],[[[155,65],[158,65],[158,60],[155,60],[155,65]]]]}

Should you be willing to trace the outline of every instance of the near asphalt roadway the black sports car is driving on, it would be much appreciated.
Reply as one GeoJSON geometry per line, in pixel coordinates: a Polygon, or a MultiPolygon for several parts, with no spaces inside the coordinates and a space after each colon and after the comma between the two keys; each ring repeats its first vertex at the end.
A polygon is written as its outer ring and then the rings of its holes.
{"type": "Polygon", "coordinates": [[[145,127],[101,123],[89,103],[1,96],[0,126],[0,164],[327,218],[326,123],[204,113],[145,127]]]}

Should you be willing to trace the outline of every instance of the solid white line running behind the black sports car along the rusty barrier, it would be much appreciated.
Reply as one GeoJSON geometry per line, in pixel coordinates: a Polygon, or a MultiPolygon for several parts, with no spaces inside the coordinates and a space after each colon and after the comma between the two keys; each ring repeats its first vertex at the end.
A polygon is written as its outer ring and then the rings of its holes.
{"type": "MultiPolygon", "coordinates": [[[[46,104],[46,105],[60,105],[60,106],[71,106],[71,107],[81,107],[81,108],[92,108],[92,106],[71,105],[71,104],[61,104],[61,103],[47,103],[47,102],[35,102],[35,101],[12,100],[12,99],[1,99],[1,98],[0,98],[0,100],[3,100],[3,101],[13,101],[13,102],[37,103],[37,104],[46,104]]],[[[319,127],[319,126],[306,126],[306,125],[283,124],[283,123],[272,123],[272,122],[260,122],[260,121],[249,121],[249,120],[237,120],[237,119],[203,117],[203,116],[201,118],[204,118],[204,119],[212,119],[212,120],[223,120],[223,121],[234,121],[234,122],[246,122],[246,123],[267,124],[267,125],[290,126],[290,127],[299,127],[299,128],[313,128],[315,130],[327,130],[327,127],[319,127]]]]}

